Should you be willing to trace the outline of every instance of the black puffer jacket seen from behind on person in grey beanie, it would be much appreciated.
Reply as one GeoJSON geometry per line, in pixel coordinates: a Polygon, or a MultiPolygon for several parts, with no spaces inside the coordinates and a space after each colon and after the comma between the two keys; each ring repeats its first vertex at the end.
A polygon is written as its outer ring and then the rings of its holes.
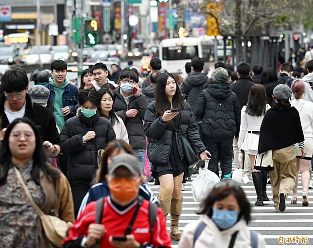
{"type": "Polygon", "coordinates": [[[203,136],[230,139],[239,135],[240,103],[229,84],[210,84],[198,97],[194,114],[202,119],[203,136]]]}

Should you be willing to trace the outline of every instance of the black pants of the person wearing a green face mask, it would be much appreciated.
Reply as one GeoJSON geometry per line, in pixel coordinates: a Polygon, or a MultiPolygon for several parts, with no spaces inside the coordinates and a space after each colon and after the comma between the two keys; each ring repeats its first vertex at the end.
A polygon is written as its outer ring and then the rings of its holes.
{"type": "Polygon", "coordinates": [[[90,188],[91,181],[88,179],[86,180],[70,179],[69,182],[70,182],[70,189],[73,195],[74,213],[75,213],[75,218],[76,218],[78,211],[79,211],[80,204],[82,203],[84,196],[87,194],[90,188]]]}

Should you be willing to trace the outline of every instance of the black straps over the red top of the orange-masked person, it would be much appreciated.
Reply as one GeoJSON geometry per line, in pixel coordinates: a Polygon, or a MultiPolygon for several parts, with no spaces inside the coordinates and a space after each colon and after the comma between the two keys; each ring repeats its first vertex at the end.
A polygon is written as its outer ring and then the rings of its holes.
{"type": "MultiPolygon", "coordinates": [[[[138,206],[140,207],[143,203],[143,197],[139,195],[138,197],[138,206]]],[[[98,199],[96,201],[96,224],[101,224],[101,220],[102,220],[102,215],[103,215],[103,205],[104,205],[104,197],[101,197],[100,199],[98,199]]],[[[131,231],[131,228],[135,222],[135,218],[137,216],[139,207],[137,207],[133,219],[131,220],[130,225],[128,226],[129,232],[131,231]]],[[[156,204],[153,204],[151,202],[149,202],[149,224],[150,224],[150,244],[152,244],[152,239],[153,239],[153,228],[155,226],[156,223],[156,212],[157,212],[157,206],[156,204]]]]}

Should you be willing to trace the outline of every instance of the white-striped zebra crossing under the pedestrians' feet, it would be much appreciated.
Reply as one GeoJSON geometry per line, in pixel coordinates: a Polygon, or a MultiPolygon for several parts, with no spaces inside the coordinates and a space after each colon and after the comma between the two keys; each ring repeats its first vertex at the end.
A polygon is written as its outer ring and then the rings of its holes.
{"type": "MultiPolygon", "coordinates": [[[[193,180],[197,175],[192,175],[193,180]]],[[[186,182],[185,191],[182,191],[184,197],[183,212],[179,220],[179,229],[183,232],[184,227],[191,222],[198,220],[196,214],[201,208],[201,202],[194,202],[191,193],[191,181],[186,182]]],[[[154,195],[158,195],[158,185],[149,183],[154,195]]],[[[270,202],[264,202],[263,207],[254,206],[256,193],[253,182],[242,184],[242,188],[251,203],[251,222],[249,228],[262,234],[268,248],[277,248],[288,245],[288,247],[306,247],[313,248],[313,190],[308,192],[309,206],[302,206],[302,185],[299,177],[297,204],[290,203],[292,194],[286,200],[287,208],[284,212],[276,212],[272,201],[272,188],[267,184],[267,195],[270,202]],[[311,200],[312,199],[312,200],[311,200]],[[311,201],[310,201],[311,200],[311,201]]],[[[167,230],[170,230],[170,218],[167,217],[167,230]]],[[[177,246],[177,241],[172,241],[173,247],[177,246]]]]}

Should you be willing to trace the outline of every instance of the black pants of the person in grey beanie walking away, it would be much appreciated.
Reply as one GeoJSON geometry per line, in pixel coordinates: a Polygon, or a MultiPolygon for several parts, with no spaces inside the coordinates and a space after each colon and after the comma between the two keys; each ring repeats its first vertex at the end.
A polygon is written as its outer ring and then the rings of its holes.
{"type": "Polygon", "coordinates": [[[209,160],[209,170],[219,176],[218,162],[220,161],[222,171],[221,179],[223,179],[224,176],[230,176],[229,174],[231,174],[231,163],[233,156],[233,139],[213,139],[203,136],[203,142],[212,156],[209,160]]]}

